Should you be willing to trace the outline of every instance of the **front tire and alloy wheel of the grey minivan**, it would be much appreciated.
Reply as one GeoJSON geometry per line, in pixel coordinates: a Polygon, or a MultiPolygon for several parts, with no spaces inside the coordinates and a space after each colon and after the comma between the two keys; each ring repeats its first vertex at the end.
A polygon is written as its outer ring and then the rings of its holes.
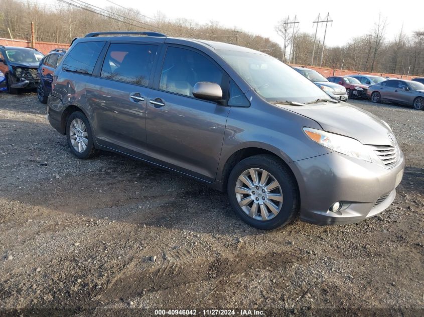
{"type": "Polygon", "coordinates": [[[285,226],[299,211],[296,179],[272,155],[254,155],[240,161],[230,173],[227,192],[239,217],[258,229],[285,226]]]}

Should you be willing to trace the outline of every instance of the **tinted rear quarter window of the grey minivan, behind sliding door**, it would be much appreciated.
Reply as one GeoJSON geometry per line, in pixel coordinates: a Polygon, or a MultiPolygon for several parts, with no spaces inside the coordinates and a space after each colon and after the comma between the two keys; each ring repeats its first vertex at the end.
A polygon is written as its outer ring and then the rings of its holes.
{"type": "Polygon", "coordinates": [[[81,42],[69,52],[62,63],[65,71],[91,75],[105,42],[81,42]]]}

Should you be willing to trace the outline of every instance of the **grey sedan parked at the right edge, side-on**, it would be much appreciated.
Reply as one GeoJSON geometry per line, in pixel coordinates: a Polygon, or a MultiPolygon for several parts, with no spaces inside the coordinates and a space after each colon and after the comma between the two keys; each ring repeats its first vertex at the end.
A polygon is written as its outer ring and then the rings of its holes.
{"type": "Polygon", "coordinates": [[[390,79],[368,88],[372,102],[390,101],[416,110],[424,109],[424,84],[411,80],[390,79]]]}

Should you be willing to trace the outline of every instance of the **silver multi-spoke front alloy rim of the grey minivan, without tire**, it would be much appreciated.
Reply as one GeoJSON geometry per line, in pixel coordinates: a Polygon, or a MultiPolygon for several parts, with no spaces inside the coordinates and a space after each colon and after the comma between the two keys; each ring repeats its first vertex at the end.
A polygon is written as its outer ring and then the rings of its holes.
{"type": "Polygon", "coordinates": [[[282,207],[282,190],[278,181],[261,168],[249,168],[240,174],[235,195],[241,209],[251,218],[266,221],[282,207]]]}

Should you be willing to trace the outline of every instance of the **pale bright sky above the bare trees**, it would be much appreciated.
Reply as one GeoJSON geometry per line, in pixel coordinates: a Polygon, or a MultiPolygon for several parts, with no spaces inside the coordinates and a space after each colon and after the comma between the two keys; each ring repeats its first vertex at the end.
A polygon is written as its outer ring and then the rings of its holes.
{"type": "MultiPolygon", "coordinates": [[[[44,2],[55,0],[40,0],[44,2]]],[[[85,2],[105,8],[113,6],[107,0],[84,0],[85,2]]],[[[161,12],[169,19],[185,18],[200,24],[210,21],[218,22],[221,26],[237,28],[253,34],[269,37],[281,44],[281,38],[274,31],[279,20],[290,16],[291,20],[297,16],[300,22],[299,31],[315,33],[313,21],[318,14],[327,16],[331,20],[328,24],[326,44],[343,46],[353,37],[362,36],[372,31],[378,15],[387,18],[386,38],[393,40],[400,32],[407,35],[415,30],[424,30],[424,0],[408,0],[399,2],[394,0],[371,1],[185,1],[185,0],[111,0],[125,8],[138,9],[142,14],[154,17],[161,12]]],[[[318,37],[324,36],[325,24],[318,27],[318,37]]]]}

